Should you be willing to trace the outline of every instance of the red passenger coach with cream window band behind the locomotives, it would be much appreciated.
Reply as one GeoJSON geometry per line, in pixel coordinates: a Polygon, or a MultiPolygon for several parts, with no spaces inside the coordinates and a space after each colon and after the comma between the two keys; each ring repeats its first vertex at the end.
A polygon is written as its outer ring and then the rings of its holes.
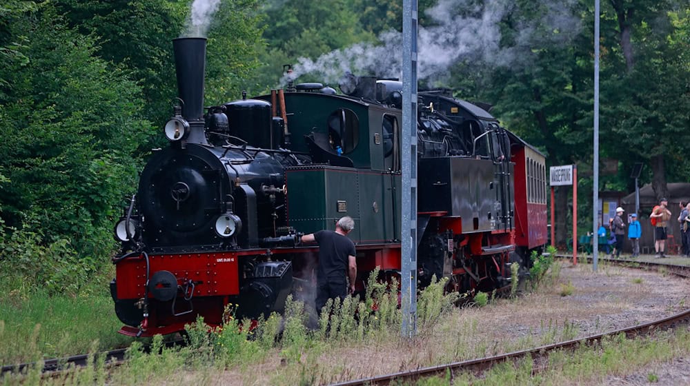
{"type": "Polygon", "coordinates": [[[528,252],[546,244],[546,159],[511,136],[515,140],[511,158],[515,163],[515,246],[528,252]]]}

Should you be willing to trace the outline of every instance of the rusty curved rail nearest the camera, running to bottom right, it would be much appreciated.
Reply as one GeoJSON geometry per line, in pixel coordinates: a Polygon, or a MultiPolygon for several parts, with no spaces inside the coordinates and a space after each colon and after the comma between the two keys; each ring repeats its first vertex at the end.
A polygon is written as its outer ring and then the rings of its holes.
{"type": "MultiPolygon", "coordinates": [[[[533,363],[542,363],[541,360],[549,352],[553,352],[558,349],[573,349],[582,344],[584,345],[595,345],[600,342],[602,338],[607,336],[616,336],[618,334],[625,334],[628,337],[631,336],[642,336],[654,331],[655,329],[660,329],[662,327],[673,327],[679,323],[686,322],[690,320],[690,310],[681,312],[667,318],[662,318],[658,321],[653,321],[651,323],[644,323],[642,325],[636,325],[633,327],[627,327],[624,329],[616,329],[609,332],[604,332],[603,334],[596,334],[592,336],[587,336],[586,338],[573,339],[571,341],[565,341],[561,343],[554,343],[552,345],[544,345],[536,347],[533,349],[526,349],[518,352],[511,352],[508,354],[501,354],[496,356],[489,356],[486,358],[463,360],[462,362],[448,363],[446,365],[436,365],[431,367],[421,367],[419,369],[411,369],[403,372],[396,372],[392,374],[386,374],[382,376],[374,376],[371,378],[362,378],[358,380],[350,380],[341,383],[333,383],[331,386],[358,386],[358,385],[388,385],[393,382],[417,380],[428,376],[439,376],[444,375],[446,372],[483,372],[486,369],[491,368],[497,363],[504,363],[508,360],[517,360],[521,358],[526,358],[530,356],[533,363]]],[[[538,368],[539,366],[535,366],[538,368]]]]}

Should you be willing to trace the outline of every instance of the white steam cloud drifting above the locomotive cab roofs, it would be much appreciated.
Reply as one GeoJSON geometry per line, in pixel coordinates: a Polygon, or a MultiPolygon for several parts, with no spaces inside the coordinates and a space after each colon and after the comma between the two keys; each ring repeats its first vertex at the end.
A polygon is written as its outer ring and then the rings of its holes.
{"type": "MultiPolygon", "coordinates": [[[[502,45],[500,22],[514,13],[517,5],[504,0],[486,0],[483,6],[473,3],[473,0],[439,0],[427,10],[433,26],[419,28],[419,79],[443,79],[451,65],[460,61],[490,67],[526,65],[531,61],[533,48],[546,43],[567,43],[580,31],[580,18],[572,11],[577,0],[548,0],[540,3],[541,17],[513,21],[512,43],[502,45]]],[[[402,34],[385,32],[378,39],[377,44],[352,45],[315,60],[300,58],[289,79],[282,79],[282,83],[308,73],[328,83],[337,82],[345,72],[400,78],[402,34]]]]}

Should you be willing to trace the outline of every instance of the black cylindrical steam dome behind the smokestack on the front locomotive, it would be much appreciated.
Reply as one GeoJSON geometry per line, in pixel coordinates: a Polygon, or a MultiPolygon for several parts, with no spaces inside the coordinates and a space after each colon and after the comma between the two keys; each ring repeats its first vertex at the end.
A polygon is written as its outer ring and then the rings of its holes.
{"type": "Polygon", "coordinates": [[[230,135],[244,139],[257,148],[270,149],[273,122],[271,105],[259,99],[244,99],[225,104],[230,135]]]}

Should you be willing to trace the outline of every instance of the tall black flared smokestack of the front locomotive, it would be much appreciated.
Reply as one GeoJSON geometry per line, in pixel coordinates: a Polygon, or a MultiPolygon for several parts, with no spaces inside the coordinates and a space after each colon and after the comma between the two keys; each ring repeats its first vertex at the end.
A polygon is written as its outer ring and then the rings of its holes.
{"type": "Polygon", "coordinates": [[[172,40],[177,70],[177,92],[182,99],[182,116],[190,125],[190,143],[206,143],[204,134],[204,72],[206,38],[185,37],[172,40]]]}

